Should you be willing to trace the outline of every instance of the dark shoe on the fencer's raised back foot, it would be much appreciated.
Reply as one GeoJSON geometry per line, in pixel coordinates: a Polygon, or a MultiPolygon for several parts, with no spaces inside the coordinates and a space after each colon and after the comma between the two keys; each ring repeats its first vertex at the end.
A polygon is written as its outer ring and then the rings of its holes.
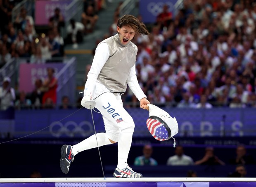
{"type": "Polygon", "coordinates": [[[62,172],[69,173],[69,166],[74,160],[74,155],[72,154],[72,147],[70,145],[63,145],[60,150],[62,157],[60,158],[59,165],[62,172]]]}

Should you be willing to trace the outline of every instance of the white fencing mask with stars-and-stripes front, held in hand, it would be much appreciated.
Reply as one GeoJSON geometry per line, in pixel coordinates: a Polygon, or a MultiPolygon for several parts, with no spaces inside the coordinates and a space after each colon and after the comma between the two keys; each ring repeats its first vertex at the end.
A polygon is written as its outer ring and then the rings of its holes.
{"type": "MultiPolygon", "coordinates": [[[[159,141],[173,138],[179,131],[176,118],[172,118],[166,111],[156,107],[153,104],[147,104],[149,107],[149,118],[147,119],[147,128],[151,135],[159,141]]],[[[175,139],[173,147],[175,147],[175,139]]]]}

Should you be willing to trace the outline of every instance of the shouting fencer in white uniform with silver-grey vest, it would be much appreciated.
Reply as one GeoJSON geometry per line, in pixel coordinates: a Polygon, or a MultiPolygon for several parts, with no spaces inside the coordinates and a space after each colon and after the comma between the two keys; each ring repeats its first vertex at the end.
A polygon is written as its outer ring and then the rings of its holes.
{"type": "Polygon", "coordinates": [[[128,85],[140,101],[140,107],[148,109],[149,101],[135,74],[137,46],[131,40],[149,32],[145,24],[132,15],[119,19],[117,32],[97,45],[81,101],[81,105],[87,109],[91,109],[88,103],[92,103],[92,100],[96,102],[95,107],[102,114],[106,133],[97,133],[73,146],[63,145],[60,159],[63,173],[69,172],[69,166],[79,152],[118,142],[118,163],[113,176],[142,178],[127,163],[135,124],[123,108],[121,95],[126,92],[128,85]]]}

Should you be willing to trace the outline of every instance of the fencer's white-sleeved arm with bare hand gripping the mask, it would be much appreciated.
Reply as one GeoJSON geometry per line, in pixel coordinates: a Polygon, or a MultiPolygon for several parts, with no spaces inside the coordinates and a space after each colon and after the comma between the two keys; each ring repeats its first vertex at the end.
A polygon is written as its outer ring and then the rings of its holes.
{"type": "Polygon", "coordinates": [[[138,83],[137,77],[136,77],[136,70],[135,70],[135,64],[130,70],[130,73],[128,75],[127,84],[129,88],[133,91],[134,95],[137,97],[137,99],[140,101],[140,108],[142,109],[148,109],[147,104],[149,104],[149,101],[146,99],[147,96],[143,93],[142,89],[140,88],[140,85],[138,83]]]}

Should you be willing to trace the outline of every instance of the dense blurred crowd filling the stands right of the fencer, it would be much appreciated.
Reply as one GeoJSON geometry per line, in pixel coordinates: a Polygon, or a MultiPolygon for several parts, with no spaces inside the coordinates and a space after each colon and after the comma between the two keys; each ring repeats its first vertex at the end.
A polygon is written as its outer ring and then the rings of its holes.
{"type": "MultiPolygon", "coordinates": [[[[137,78],[160,106],[256,107],[256,3],[184,0],[137,36],[137,78]]],[[[140,18],[140,16],[139,16],[140,18]]],[[[126,102],[137,104],[130,90],[126,102]]]]}

